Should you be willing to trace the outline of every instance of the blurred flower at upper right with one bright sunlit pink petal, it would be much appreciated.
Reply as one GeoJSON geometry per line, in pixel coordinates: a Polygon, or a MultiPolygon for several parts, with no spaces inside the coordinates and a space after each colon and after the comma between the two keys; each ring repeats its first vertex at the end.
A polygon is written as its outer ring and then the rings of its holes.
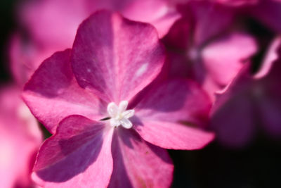
{"type": "Polygon", "coordinates": [[[164,39],[170,50],[171,77],[197,80],[214,99],[256,53],[253,37],[230,30],[235,9],[207,1],[190,1],[182,7],[185,15],[164,39]],[[211,23],[211,24],[210,24],[211,23]]]}

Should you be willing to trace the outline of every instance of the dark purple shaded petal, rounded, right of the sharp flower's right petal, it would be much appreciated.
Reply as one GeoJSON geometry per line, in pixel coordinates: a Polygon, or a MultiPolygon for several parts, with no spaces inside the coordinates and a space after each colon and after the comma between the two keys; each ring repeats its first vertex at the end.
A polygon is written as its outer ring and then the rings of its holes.
{"type": "Polygon", "coordinates": [[[233,96],[211,118],[218,142],[225,146],[249,144],[255,133],[254,108],[249,96],[233,96]]]}

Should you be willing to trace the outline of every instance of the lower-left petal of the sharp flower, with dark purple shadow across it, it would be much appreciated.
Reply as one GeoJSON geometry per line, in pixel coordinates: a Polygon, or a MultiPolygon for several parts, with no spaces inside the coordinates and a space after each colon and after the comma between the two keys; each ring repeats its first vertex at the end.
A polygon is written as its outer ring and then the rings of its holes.
{"type": "Polygon", "coordinates": [[[65,118],[39,150],[33,179],[44,187],[106,187],[113,129],[80,115],[65,118]]]}

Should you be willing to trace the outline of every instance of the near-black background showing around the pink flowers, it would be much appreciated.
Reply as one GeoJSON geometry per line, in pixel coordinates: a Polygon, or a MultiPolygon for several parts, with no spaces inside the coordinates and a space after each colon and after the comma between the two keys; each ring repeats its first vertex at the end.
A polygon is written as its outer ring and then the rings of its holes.
{"type": "MultiPolygon", "coordinates": [[[[15,0],[0,1],[0,84],[12,81],[8,68],[8,42],[17,25],[15,4],[15,0]]],[[[249,25],[249,30],[257,37],[270,35],[252,20],[249,25]]],[[[253,60],[260,62],[263,51],[261,49],[253,60]]],[[[280,146],[280,140],[270,139],[261,130],[244,149],[226,149],[215,141],[200,151],[169,151],[175,165],[172,187],[281,187],[280,146]]]]}

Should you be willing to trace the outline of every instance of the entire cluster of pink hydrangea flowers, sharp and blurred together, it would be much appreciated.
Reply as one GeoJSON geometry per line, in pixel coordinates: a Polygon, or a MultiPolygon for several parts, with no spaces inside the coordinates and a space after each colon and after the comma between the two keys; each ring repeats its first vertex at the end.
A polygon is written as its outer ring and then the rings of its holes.
{"type": "Polygon", "coordinates": [[[170,187],[166,149],[215,138],[241,148],[259,127],[280,138],[280,10],[280,0],[22,2],[14,81],[0,90],[1,186],[170,187]],[[32,115],[52,134],[43,143],[32,115]]]}

